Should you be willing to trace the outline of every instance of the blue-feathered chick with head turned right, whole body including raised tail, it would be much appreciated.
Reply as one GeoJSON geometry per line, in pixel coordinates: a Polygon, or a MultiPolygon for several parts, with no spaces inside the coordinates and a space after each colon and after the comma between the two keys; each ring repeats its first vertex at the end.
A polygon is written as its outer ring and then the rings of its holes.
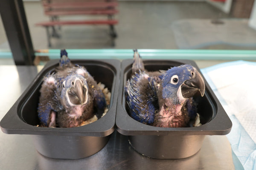
{"type": "Polygon", "coordinates": [[[148,72],[138,63],[142,59],[135,50],[132,76],[125,86],[131,117],[156,127],[188,127],[197,115],[192,97],[198,92],[204,96],[201,74],[191,65],[148,72]]]}

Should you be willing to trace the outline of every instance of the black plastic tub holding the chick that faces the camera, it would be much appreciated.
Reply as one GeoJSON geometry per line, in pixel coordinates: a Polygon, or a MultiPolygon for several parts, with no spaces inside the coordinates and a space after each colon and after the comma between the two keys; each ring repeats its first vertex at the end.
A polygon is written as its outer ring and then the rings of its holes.
{"type": "Polygon", "coordinates": [[[31,135],[38,152],[50,158],[80,159],[91,156],[107,144],[114,131],[120,61],[71,60],[74,64],[84,65],[97,82],[102,82],[111,91],[110,106],[105,116],[80,127],[36,127],[39,125],[37,107],[43,77],[58,66],[58,62],[59,60],[52,60],[45,65],[3,117],[1,129],[4,133],[31,135]]]}

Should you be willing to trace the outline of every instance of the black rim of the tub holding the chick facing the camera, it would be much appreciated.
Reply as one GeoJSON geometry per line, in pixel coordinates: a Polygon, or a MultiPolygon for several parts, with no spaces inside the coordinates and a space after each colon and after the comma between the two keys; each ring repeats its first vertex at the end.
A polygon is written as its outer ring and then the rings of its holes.
{"type": "MultiPolygon", "coordinates": [[[[116,117],[116,103],[119,90],[120,61],[117,59],[71,59],[71,62],[84,64],[97,64],[108,67],[113,72],[113,85],[111,89],[111,107],[105,116],[96,122],[79,127],[36,127],[24,122],[18,115],[20,106],[28,99],[30,91],[35,88],[33,84],[41,82],[42,77],[59,63],[59,59],[50,60],[37,74],[31,84],[17,99],[15,104],[6,113],[0,122],[1,130],[7,134],[29,134],[29,135],[57,135],[57,136],[108,136],[114,131],[116,117]]],[[[82,65],[82,64],[81,64],[82,65]]]]}

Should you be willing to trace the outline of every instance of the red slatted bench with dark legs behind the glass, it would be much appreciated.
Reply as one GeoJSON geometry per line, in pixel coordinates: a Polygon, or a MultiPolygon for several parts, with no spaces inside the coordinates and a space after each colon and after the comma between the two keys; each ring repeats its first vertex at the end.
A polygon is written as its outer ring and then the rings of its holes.
{"type": "Polygon", "coordinates": [[[64,25],[108,25],[110,28],[111,45],[114,46],[114,39],[117,34],[114,25],[114,14],[118,13],[116,0],[42,0],[44,14],[50,17],[50,21],[36,23],[36,26],[44,26],[47,30],[48,46],[51,46],[51,37],[59,38],[55,26],[64,25]],[[62,15],[105,15],[105,20],[61,20],[62,15]],[[51,30],[50,30],[51,28],[51,30]]]}

